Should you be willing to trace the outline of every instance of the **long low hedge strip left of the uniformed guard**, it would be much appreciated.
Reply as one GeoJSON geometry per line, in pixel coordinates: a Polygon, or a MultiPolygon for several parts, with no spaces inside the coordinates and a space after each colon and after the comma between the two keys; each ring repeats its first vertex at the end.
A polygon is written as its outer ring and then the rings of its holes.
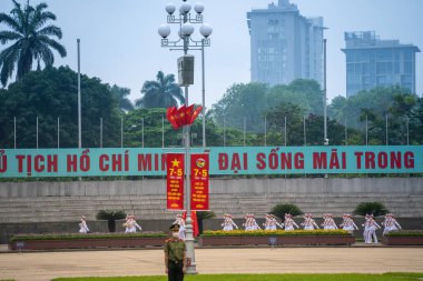
{"type": "Polygon", "coordinates": [[[16,234],[10,238],[13,241],[28,240],[81,240],[81,239],[137,239],[137,238],[167,238],[164,232],[150,233],[49,233],[49,234],[16,234]]]}

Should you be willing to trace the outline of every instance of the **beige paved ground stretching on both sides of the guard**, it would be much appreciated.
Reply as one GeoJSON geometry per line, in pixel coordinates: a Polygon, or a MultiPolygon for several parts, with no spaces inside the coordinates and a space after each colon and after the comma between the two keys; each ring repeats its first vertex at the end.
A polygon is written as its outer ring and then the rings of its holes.
{"type": "MultiPolygon", "coordinates": [[[[423,248],[197,249],[198,273],[423,272],[423,248]]],[[[0,253],[0,280],[165,274],[161,250],[0,253]]]]}

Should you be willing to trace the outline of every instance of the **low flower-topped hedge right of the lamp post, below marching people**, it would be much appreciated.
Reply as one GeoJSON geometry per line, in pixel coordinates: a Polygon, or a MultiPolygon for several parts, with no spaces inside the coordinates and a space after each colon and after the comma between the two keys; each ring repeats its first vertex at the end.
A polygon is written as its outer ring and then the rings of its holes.
{"type": "Polygon", "coordinates": [[[255,231],[244,231],[244,230],[233,230],[233,231],[210,231],[206,230],[203,232],[201,237],[313,237],[313,235],[351,235],[346,230],[255,230],[255,231]]]}

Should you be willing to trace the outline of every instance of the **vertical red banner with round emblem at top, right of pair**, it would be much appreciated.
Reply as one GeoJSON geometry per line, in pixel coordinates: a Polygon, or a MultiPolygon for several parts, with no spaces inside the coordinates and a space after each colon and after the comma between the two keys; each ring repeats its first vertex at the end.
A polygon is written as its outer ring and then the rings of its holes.
{"type": "Polygon", "coordinates": [[[207,211],[208,209],[208,153],[190,155],[191,164],[191,210],[207,211]]]}

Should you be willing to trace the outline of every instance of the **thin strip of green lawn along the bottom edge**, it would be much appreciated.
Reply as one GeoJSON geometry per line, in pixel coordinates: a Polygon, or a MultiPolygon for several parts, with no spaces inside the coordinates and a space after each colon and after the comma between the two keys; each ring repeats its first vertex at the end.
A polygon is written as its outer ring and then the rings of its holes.
{"type": "MultiPolygon", "coordinates": [[[[200,274],[186,275],[185,281],[415,281],[423,273],[384,274],[200,274]]],[[[58,278],[53,281],[166,281],[167,277],[58,278]]]]}

